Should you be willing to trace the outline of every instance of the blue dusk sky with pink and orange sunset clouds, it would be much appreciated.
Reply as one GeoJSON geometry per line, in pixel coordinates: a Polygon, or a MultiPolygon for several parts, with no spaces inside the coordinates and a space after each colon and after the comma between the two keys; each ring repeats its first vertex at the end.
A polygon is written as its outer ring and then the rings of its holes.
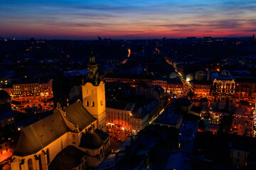
{"type": "Polygon", "coordinates": [[[233,37],[256,33],[254,0],[1,0],[4,38],[233,37]]]}

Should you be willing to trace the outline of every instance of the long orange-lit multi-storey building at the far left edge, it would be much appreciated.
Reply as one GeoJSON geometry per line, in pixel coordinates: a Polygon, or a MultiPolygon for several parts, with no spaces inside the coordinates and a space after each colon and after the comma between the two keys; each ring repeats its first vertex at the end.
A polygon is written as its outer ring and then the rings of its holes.
{"type": "Polygon", "coordinates": [[[11,87],[2,88],[12,97],[22,96],[49,96],[53,94],[53,79],[47,83],[12,84],[11,87]]]}

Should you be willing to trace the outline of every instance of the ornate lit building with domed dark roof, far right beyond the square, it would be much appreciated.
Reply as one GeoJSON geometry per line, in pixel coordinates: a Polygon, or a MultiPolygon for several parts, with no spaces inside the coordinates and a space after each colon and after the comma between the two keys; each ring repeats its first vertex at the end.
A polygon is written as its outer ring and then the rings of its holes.
{"type": "Polygon", "coordinates": [[[223,96],[234,96],[235,77],[232,77],[227,70],[213,80],[213,93],[223,96]]]}

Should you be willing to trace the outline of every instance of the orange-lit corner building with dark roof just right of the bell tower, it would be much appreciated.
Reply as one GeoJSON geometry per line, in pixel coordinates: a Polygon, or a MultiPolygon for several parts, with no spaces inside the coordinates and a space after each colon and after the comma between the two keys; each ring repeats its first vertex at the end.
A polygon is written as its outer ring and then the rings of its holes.
{"type": "Polygon", "coordinates": [[[112,130],[124,130],[137,134],[153,122],[161,110],[161,105],[156,100],[144,106],[136,103],[107,102],[107,126],[112,130]]]}

